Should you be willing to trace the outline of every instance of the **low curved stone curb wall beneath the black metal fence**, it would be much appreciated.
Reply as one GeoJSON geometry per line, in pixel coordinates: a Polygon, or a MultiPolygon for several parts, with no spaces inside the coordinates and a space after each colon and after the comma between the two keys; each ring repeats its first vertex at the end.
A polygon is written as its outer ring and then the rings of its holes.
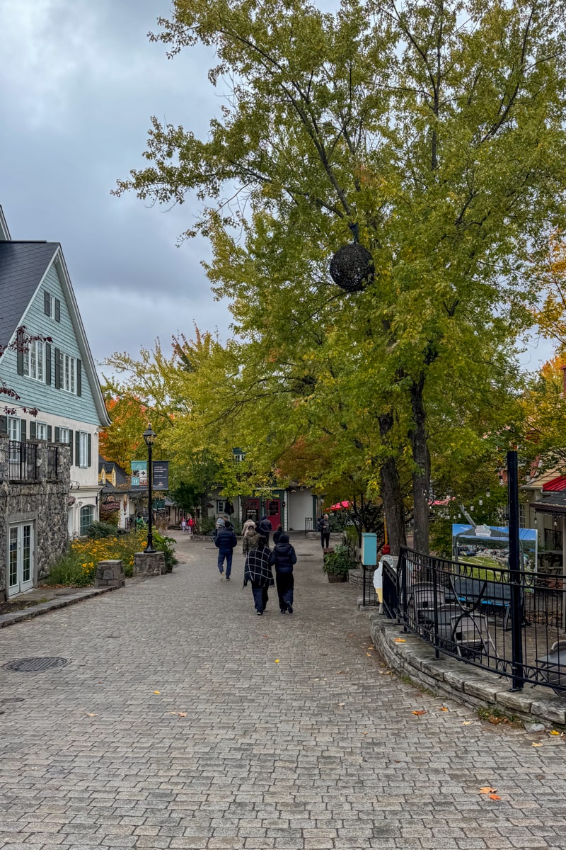
{"type": "Polygon", "coordinates": [[[511,712],[528,723],[566,727],[566,699],[549,688],[526,684],[522,691],[512,693],[507,677],[479,671],[446,655],[435,658],[428,643],[403,632],[396,620],[383,614],[370,616],[370,633],[391,670],[437,696],[451,697],[472,708],[511,712]],[[402,643],[397,643],[399,640],[402,643]]]}

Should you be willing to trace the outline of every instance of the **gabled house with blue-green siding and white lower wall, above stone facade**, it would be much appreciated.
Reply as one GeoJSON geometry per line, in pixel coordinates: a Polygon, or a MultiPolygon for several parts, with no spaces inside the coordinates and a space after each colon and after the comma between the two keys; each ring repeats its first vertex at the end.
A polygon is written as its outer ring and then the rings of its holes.
{"type": "Polygon", "coordinates": [[[0,433],[70,447],[68,530],[84,533],[98,519],[98,432],[109,416],[59,242],[11,239],[1,207],[0,345],[0,378],[19,396],[0,396],[0,433]],[[22,327],[51,342],[14,346],[22,327]]]}

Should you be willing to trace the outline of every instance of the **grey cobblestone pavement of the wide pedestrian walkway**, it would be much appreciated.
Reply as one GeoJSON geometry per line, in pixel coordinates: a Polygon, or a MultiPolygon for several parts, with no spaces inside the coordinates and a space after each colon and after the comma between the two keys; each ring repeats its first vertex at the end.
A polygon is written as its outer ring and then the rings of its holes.
{"type": "Polygon", "coordinates": [[[172,575],[3,630],[0,664],[70,663],[0,669],[0,847],[566,847],[563,739],[388,674],[355,589],[295,547],[292,616],[183,539],[172,575]]]}

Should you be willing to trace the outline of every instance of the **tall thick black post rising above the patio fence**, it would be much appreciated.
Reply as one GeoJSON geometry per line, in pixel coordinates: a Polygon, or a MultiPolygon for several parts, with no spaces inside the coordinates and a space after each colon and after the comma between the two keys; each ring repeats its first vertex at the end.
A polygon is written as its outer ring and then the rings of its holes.
{"type": "Polygon", "coordinates": [[[521,605],[521,571],[518,538],[518,462],[517,452],[507,451],[509,494],[509,584],[511,585],[511,649],[513,688],[523,688],[523,611],[521,605]]]}

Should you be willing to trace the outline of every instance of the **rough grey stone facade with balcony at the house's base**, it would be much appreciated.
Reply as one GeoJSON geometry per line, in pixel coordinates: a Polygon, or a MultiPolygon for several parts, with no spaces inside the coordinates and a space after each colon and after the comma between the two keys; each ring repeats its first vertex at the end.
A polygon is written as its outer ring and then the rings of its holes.
{"type": "MultiPolygon", "coordinates": [[[[23,444],[29,445],[29,444],[23,444]]],[[[57,478],[48,478],[48,444],[37,442],[36,479],[9,479],[9,440],[0,438],[0,599],[7,597],[8,529],[10,524],[33,524],[33,586],[69,544],[67,500],[70,454],[58,445],[57,478]]],[[[53,475],[53,470],[50,473],[53,475]]]]}

